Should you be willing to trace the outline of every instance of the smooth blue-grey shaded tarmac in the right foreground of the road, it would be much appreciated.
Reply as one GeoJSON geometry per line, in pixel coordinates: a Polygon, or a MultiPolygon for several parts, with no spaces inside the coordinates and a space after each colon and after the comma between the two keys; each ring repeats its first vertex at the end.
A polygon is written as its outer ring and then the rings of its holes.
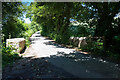
{"type": "Polygon", "coordinates": [[[46,59],[55,66],[67,70],[69,73],[75,72],[74,75],[80,77],[100,78],[102,76],[103,78],[117,78],[120,74],[120,67],[118,64],[109,63],[104,60],[101,61],[101,59],[96,59],[90,55],[84,55],[82,53],[66,54],[64,52],[58,52],[58,54],[51,55],[46,59]],[[81,67],[83,70],[81,70],[81,67]],[[81,76],[81,71],[86,73],[86,75],[81,76]]]}

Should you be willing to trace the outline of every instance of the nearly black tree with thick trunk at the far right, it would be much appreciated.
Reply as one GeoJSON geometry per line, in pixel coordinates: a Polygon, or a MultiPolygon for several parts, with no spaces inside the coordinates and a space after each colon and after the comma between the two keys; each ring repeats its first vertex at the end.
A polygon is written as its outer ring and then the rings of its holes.
{"type": "Polygon", "coordinates": [[[112,22],[120,11],[120,3],[96,3],[93,6],[98,10],[99,16],[95,36],[104,36],[104,49],[107,50],[113,46],[115,31],[112,22]]]}

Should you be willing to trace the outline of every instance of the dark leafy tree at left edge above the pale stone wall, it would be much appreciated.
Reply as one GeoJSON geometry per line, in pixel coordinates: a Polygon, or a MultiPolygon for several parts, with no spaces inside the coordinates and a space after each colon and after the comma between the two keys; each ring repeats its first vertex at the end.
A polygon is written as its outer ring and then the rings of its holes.
{"type": "MultiPolygon", "coordinates": [[[[9,37],[16,37],[21,26],[16,26],[18,17],[22,16],[22,3],[18,2],[3,2],[2,3],[2,33],[5,41],[9,37]]],[[[19,25],[19,24],[18,24],[19,25]]]]}

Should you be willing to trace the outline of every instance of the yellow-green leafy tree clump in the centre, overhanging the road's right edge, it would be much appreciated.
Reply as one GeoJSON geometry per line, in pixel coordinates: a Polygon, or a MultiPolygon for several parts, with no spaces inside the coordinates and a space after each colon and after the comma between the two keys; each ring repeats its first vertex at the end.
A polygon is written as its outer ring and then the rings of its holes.
{"type": "Polygon", "coordinates": [[[72,3],[32,3],[29,7],[32,11],[27,14],[33,21],[42,25],[43,36],[49,36],[60,43],[66,43],[69,39],[68,27],[70,15],[68,12],[72,3]],[[55,36],[55,35],[59,35],[55,36]]]}

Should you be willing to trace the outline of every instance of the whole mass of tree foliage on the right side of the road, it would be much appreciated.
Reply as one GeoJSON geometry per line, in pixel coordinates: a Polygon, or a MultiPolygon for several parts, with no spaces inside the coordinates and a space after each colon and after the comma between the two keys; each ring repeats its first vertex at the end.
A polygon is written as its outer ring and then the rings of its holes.
{"type": "Polygon", "coordinates": [[[71,36],[100,36],[104,37],[103,42],[89,43],[88,51],[116,53],[120,50],[119,19],[114,19],[120,11],[119,3],[32,3],[29,9],[32,11],[28,11],[27,16],[42,25],[41,34],[58,43],[68,44],[71,36]],[[74,22],[79,25],[73,25],[74,22]]]}

